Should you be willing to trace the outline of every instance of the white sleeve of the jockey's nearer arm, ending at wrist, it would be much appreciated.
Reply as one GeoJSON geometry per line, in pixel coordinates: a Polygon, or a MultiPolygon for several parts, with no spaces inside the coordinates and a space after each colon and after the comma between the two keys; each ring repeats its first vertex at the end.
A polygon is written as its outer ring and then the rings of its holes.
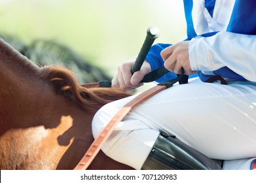
{"type": "Polygon", "coordinates": [[[196,37],[189,43],[192,71],[215,71],[229,67],[247,80],[256,81],[256,35],[219,32],[196,37]]]}

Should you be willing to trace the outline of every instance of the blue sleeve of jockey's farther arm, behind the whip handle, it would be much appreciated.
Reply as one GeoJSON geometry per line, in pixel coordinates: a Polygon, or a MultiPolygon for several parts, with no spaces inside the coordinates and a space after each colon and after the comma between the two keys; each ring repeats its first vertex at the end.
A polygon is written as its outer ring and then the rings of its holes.
{"type": "MultiPolygon", "coordinates": [[[[149,50],[149,53],[147,54],[146,60],[151,65],[151,70],[155,70],[159,67],[164,67],[164,60],[160,56],[160,52],[164,50],[164,48],[167,48],[168,46],[172,46],[172,44],[164,44],[164,43],[158,43],[151,47],[149,50]]],[[[164,82],[166,80],[171,80],[173,78],[176,78],[177,75],[175,73],[169,72],[163,75],[162,77],[158,78],[156,82],[164,82]]]]}

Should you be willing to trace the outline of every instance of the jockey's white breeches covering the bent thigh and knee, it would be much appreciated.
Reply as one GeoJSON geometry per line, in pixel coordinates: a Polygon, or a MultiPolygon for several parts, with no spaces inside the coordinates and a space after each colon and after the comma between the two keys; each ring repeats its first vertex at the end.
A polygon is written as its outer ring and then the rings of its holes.
{"type": "MultiPolygon", "coordinates": [[[[132,98],[109,103],[96,113],[94,137],[132,98]]],[[[196,81],[168,88],[134,108],[102,150],[110,158],[141,169],[160,130],[209,158],[256,157],[256,83],[196,81]]]]}

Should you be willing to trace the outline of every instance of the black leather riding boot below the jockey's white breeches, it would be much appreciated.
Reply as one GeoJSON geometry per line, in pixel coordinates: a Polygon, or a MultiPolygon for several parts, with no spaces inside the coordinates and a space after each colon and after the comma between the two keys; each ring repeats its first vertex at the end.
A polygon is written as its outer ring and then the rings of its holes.
{"type": "Polygon", "coordinates": [[[141,169],[144,170],[221,170],[204,154],[166,133],[160,133],[141,169]]]}

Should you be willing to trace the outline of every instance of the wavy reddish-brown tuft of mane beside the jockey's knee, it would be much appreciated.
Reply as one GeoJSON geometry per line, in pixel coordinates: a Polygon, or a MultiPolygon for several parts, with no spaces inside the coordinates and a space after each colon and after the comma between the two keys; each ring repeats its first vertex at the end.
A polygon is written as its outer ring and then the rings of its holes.
{"type": "Polygon", "coordinates": [[[65,67],[50,65],[41,68],[41,77],[52,84],[56,93],[64,95],[78,107],[97,107],[111,101],[130,96],[118,88],[84,88],[80,86],[73,72],[65,67]]]}

